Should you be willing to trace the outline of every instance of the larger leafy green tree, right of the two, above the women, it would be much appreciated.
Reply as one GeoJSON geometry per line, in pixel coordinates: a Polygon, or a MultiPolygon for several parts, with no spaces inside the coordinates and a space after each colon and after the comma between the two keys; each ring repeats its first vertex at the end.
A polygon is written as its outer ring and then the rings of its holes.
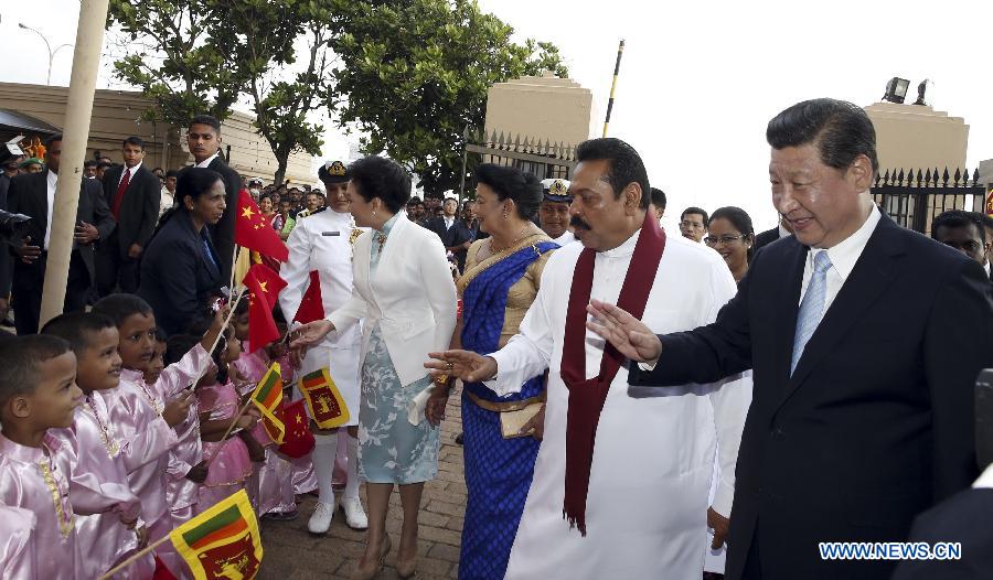
{"type": "Polygon", "coordinates": [[[429,194],[459,186],[462,132],[482,127],[493,84],[568,76],[557,47],[514,43],[513,29],[472,0],[341,2],[334,25],[342,66],[330,107],[367,133],[365,151],[407,165],[429,194]]]}

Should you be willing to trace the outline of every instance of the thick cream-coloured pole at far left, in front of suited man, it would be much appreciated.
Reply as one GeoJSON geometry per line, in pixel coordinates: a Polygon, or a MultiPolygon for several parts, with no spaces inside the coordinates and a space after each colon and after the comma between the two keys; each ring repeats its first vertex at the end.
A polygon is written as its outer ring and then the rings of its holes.
{"type": "Polygon", "coordinates": [[[109,0],[81,0],[39,326],[62,313],[109,0]]]}

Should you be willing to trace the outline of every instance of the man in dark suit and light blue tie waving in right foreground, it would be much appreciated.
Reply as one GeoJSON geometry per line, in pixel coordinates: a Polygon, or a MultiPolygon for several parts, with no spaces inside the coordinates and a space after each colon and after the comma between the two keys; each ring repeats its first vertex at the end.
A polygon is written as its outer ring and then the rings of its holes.
{"type": "Polygon", "coordinates": [[[637,386],[752,368],[729,580],[888,578],[893,560],[823,559],[824,541],[904,541],[918,513],[975,479],[973,384],[993,364],[982,267],[873,204],[875,130],[855,105],[800,103],[769,122],[777,211],[716,322],[655,336],[594,302],[637,386]]]}

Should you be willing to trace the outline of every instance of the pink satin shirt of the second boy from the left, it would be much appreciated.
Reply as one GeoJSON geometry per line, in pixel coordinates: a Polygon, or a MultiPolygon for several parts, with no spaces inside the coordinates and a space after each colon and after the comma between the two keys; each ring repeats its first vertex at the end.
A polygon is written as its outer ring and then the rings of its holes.
{"type": "MultiPolygon", "coordinates": [[[[55,431],[72,442],[77,457],[73,479],[90,473],[102,484],[117,484],[130,490],[128,473],[120,454],[120,441],[110,425],[104,399],[92,394],[76,409],[76,418],[68,429],[55,431]]],[[[135,497],[136,508],[138,497],[135,497]]],[[[138,549],[138,536],[120,522],[116,513],[76,516],[76,546],[81,561],[76,566],[78,578],[97,578],[138,549]]],[[[115,576],[118,579],[149,578],[154,572],[151,555],[136,561],[115,576]]]]}

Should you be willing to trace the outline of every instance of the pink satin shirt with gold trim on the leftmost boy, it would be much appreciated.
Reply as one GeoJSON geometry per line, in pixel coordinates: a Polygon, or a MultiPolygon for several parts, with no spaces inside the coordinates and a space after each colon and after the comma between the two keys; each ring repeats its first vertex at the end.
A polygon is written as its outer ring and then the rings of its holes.
{"type": "Polygon", "coordinates": [[[0,434],[0,505],[28,509],[36,518],[31,539],[43,552],[36,560],[35,578],[77,578],[76,511],[136,513],[137,498],[130,491],[100,482],[77,465],[65,438],[47,433],[41,448],[31,448],[0,434]]]}

